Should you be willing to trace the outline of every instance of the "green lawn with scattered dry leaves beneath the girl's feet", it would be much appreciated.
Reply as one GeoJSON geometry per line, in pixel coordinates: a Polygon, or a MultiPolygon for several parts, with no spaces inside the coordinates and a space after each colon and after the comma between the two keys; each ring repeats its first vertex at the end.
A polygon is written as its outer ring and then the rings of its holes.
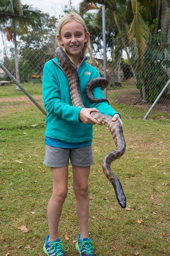
{"type": "MultiPolygon", "coordinates": [[[[114,108],[123,117],[130,111],[118,104],[114,108]]],[[[119,207],[113,187],[102,172],[103,157],[115,148],[111,135],[104,126],[94,126],[95,163],[89,177],[89,193],[94,199],[90,201],[89,236],[96,256],[130,256],[136,251],[140,256],[169,255],[170,122],[156,113],[157,119],[123,119],[127,149],[112,163],[112,170],[122,182],[129,211],[119,207]]],[[[52,179],[50,170],[42,164],[44,131],[45,116],[33,106],[17,112],[6,109],[1,119],[1,255],[45,255],[42,245],[48,234],[46,211],[52,179]],[[28,233],[18,229],[22,225],[28,233]]],[[[79,227],[71,168],[68,188],[59,236],[70,247],[67,256],[76,256],[72,241],[77,239],[79,227]],[[66,233],[68,241],[64,239],[66,233]]]]}

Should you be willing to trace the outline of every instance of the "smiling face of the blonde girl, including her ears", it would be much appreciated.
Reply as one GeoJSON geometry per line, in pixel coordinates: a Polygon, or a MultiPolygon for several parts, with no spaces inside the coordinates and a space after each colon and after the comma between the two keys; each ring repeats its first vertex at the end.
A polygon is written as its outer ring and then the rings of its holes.
{"type": "Polygon", "coordinates": [[[61,36],[57,35],[60,45],[63,45],[71,57],[78,60],[84,44],[88,41],[90,33],[86,32],[81,23],[71,20],[61,29],[61,36]]]}

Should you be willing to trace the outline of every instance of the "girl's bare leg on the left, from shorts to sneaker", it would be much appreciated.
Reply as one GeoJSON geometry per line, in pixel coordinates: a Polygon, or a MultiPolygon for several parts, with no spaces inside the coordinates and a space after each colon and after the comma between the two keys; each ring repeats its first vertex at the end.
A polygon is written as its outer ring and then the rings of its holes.
{"type": "Polygon", "coordinates": [[[62,212],[62,205],[67,196],[68,186],[68,166],[54,168],[51,167],[53,178],[53,192],[48,203],[48,226],[49,241],[55,241],[58,237],[58,224],[62,212]]]}

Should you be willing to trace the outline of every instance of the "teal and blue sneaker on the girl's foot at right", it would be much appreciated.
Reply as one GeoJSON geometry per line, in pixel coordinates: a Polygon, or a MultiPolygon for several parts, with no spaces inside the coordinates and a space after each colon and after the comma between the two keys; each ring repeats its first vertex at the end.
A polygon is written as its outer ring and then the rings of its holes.
{"type": "Polygon", "coordinates": [[[94,244],[92,243],[91,239],[80,239],[80,234],[77,239],[76,250],[79,252],[80,256],[95,256],[94,244]]]}

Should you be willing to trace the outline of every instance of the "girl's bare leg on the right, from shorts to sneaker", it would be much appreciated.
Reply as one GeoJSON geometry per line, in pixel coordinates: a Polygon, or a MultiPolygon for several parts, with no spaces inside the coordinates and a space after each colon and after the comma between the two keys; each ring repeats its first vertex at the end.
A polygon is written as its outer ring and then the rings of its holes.
{"type": "Polygon", "coordinates": [[[76,196],[76,212],[79,220],[81,237],[88,237],[88,214],[89,214],[89,195],[88,195],[88,176],[90,166],[79,167],[72,165],[73,168],[73,189],[76,196]]]}

